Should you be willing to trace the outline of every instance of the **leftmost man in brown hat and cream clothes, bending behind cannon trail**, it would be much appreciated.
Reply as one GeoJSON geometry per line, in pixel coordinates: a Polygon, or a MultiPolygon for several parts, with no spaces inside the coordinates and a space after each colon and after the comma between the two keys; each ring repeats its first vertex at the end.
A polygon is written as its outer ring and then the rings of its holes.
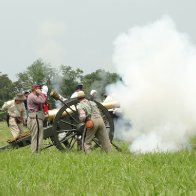
{"type": "Polygon", "coordinates": [[[23,94],[17,94],[14,100],[7,101],[2,106],[2,111],[7,112],[8,127],[10,128],[14,140],[23,132],[23,116],[25,112],[23,102],[25,99],[23,94]]]}

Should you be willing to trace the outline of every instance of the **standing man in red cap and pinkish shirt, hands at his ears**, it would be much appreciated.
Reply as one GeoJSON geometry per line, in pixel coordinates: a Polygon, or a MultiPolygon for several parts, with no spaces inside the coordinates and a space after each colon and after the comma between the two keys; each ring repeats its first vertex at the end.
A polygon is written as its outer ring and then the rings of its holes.
{"type": "Polygon", "coordinates": [[[46,98],[41,91],[41,86],[32,86],[32,91],[27,98],[28,120],[27,127],[31,130],[31,151],[40,152],[43,141],[43,103],[46,98]]]}

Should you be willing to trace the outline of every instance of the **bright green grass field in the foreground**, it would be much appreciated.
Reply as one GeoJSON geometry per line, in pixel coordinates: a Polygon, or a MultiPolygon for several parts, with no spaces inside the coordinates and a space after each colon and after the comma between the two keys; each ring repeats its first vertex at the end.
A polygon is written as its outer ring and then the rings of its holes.
{"type": "MultiPolygon", "coordinates": [[[[9,137],[0,123],[1,144],[9,137]]],[[[195,148],[134,155],[126,143],[116,143],[122,152],[1,151],[0,195],[196,195],[195,148]]]]}

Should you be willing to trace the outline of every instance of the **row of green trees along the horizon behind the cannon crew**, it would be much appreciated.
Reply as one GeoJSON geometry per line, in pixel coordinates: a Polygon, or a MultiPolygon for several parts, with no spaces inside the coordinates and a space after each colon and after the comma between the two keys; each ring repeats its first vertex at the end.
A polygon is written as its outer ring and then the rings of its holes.
{"type": "Polygon", "coordinates": [[[0,107],[5,101],[13,99],[17,93],[29,91],[34,84],[47,85],[49,92],[55,89],[62,96],[69,98],[76,85],[82,83],[86,94],[95,89],[99,96],[103,97],[105,87],[120,79],[118,74],[103,69],[84,74],[82,69],[73,69],[68,65],[54,68],[42,59],[37,59],[24,72],[18,73],[16,76],[17,80],[12,82],[7,74],[0,72],[0,107]]]}

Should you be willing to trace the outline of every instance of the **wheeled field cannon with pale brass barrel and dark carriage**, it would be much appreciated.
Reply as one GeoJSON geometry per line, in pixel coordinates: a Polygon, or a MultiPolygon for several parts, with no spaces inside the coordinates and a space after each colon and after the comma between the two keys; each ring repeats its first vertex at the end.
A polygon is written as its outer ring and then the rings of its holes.
{"type": "MultiPolygon", "coordinates": [[[[44,140],[48,140],[49,143],[44,146],[44,149],[51,146],[55,146],[59,150],[72,149],[77,146],[78,150],[81,150],[84,130],[84,124],[80,123],[77,111],[77,99],[64,100],[56,91],[50,93],[56,101],[62,103],[60,109],[53,109],[48,111],[48,116],[46,117],[46,126],[44,127],[44,140]]],[[[96,101],[95,101],[96,102],[96,101]]],[[[119,107],[117,102],[109,103],[99,103],[96,102],[101,115],[104,119],[104,123],[109,134],[109,138],[113,146],[120,150],[112,140],[114,137],[114,122],[108,112],[108,109],[119,107]]],[[[99,146],[96,138],[93,140],[96,146],[99,146]]],[[[17,140],[10,142],[7,145],[0,147],[0,150],[10,149],[10,148],[20,148],[31,143],[30,132],[24,135],[24,137],[19,137],[17,140]]]]}

